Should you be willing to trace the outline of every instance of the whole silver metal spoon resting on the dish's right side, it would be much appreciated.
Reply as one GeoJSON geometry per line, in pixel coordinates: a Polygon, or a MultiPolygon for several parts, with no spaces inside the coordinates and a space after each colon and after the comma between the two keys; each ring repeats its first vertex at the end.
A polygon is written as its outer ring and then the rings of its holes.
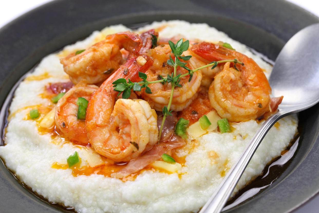
{"type": "Polygon", "coordinates": [[[319,23],[295,34],[279,53],[269,83],[274,97],[284,96],[279,111],[258,129],[216,192],[199,213],[222,210],[264,136],[280,118],[319,102],[319,23]]]}

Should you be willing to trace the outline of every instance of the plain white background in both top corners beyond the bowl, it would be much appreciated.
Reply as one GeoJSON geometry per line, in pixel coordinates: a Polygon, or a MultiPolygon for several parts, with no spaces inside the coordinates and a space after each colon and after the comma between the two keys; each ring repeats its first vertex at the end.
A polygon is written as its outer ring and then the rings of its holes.
{"type": "MultiPolygon", "coordinates": [[[[0,3],[0,28],[19,17],[20,15],[30,11],[51,0],[1,0],[0,3]]],[[[318,0],[288,0],[313,14],[319,16],[318,0]]]]}

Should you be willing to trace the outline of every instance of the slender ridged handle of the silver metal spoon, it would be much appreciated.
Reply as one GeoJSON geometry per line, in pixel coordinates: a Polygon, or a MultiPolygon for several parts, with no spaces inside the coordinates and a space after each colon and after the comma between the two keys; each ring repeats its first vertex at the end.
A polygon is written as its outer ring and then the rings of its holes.
{"type": "Polygon", "coordinates": [[[219,185],[215,193],[207,201],[204,207],[199,213],[219,213],[226,204],[228,198],[232,194],[237,182],[239,181],[242,173],[247,167],[251,157],[254,155],[260,142],[265,137],[268,130],[273,126],[280,118],[284,117],[287,112],[279,111],[269,117],[263,125],[258,129],[254,137],[251,139],[244,152],[241,154],[237,162],[230,169],[222,183],[219,185]]]}

